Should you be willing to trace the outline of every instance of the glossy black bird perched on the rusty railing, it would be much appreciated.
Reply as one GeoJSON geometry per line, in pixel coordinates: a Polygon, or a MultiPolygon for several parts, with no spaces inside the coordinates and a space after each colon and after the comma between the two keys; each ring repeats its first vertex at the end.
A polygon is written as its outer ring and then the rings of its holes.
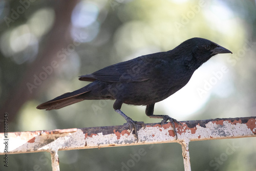
{"type": "Polygon", "coordinates": [[[114,110],[127,121],[131,131],[134,129],[138,139],[136,124],[144,123],[132,120],[120,109],[123,103],[146,105],[146,115],[162,118],[161,124],[169,120],[177,138],[174,122],[180,122],[168,115],[153,115],[154,105],[183,88],[204,62],[219,53],[232,52],[210,40],[191,38],[173,50],[143,55],[82,75],[79,80],[92,83],[42,103],[37,109],[60,109],[82,100],[116,100],[114,110]]]}

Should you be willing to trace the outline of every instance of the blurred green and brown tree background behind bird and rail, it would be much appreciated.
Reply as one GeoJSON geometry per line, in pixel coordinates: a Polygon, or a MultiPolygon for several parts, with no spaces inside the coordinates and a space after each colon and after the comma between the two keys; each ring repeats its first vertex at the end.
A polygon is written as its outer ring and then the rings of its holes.
{"type": "MultiPolygon", "coordinates": [[[[233,54],[211,58],[181,91],[157,103],[155,114],[178,120],[256,116],[255,7],[249,0],[1,1],[1,116],[9,113],[9,132],[121,125],[125,120],[113,101],[56,111],[36,106],[85,86],[80,75],[171,50],[191,37],[210,39],[233,54]]],[[[134,120],[160,122],[148,118],[144,106],[124,104],[122,110],[134,120]]],[[[192,170],[256,170],[255,138],[189,147],[192,170]]],[[[183,170],[178,143],[62,151],[59,162],[62,171],[183,170]],[[145,153],[132,162],[140,148],[145,153]]],[[[51,170],[50,155],[10,155],[8,169],[51,170]]]]}

